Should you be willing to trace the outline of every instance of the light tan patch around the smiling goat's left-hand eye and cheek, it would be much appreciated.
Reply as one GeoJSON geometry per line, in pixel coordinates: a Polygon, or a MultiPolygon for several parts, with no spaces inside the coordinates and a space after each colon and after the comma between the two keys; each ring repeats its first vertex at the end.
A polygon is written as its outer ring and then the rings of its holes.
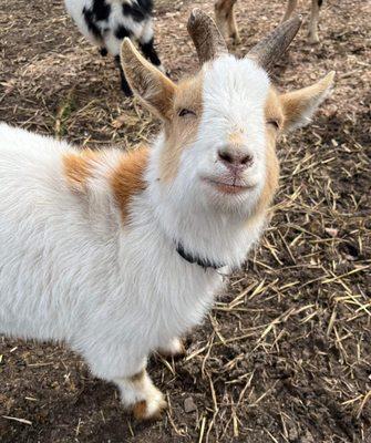
{"type": "Polygon", "coordinates": [[[174,96],[174,117],[165,124],[165,146],[161,152],[159,178],[171,182],[177,174],[183,150],[194,143],[203,114],[203,73],[184,80],[174,96]],[[179,116],[181,110],[189,110],[196,115],[179,116]]]}

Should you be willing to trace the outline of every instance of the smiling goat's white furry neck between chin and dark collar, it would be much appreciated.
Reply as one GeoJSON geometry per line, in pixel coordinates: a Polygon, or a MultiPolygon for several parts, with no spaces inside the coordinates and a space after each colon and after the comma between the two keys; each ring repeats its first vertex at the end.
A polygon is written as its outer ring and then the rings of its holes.
{"type": "Polygon", "coordinates": [[[260,236],[265,213],[247,218],[221,213],[205,206],[193,186],[182,189],[179,184],[163,183],[158,177],[162,143],[159,136],[146,172],[146,199],[159,229],[174,245],[182,244],[194,256],[239,267],[260,236]]]}

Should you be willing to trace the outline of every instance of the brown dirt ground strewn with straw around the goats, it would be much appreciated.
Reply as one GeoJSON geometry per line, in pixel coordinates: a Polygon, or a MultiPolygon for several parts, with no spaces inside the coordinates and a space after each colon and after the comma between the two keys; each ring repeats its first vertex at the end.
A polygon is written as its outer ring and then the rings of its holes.
{"type": "MultiPolygon", "coordinates": [[[[197,69],[186,19],[212,3],[156,2],[172,78],[197,69]]],[[[329,0],[321,43],[309,45],[306,3],[274,78],[288,90],[336,70],[334,91],[310,127],[281,141],[270,227],[189,336],[186,358],[151,360],[169,403],[164,419],[136,423],[114,387],[64,347],[0,337],[1,443],[371,442],[371,8],[329,0]]],[[[233,51],[246,53],[284,9],[239,1],[243,43],[233,51]]],[[[158,130],[124,100],[112,60],[82,39],[61,0],[0,0],[0,120],[123,148],[158,130]]]]}

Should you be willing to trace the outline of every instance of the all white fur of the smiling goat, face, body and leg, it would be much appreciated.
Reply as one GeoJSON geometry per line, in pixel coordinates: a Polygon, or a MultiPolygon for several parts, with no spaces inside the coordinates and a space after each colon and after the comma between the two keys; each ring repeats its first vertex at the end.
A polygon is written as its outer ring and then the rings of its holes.
{"type": "Polygon", "coordinates": [[[131,377],[152,351],[179,350],[177,337],[202,321],[223,284],[176,245],[239,267],[264,228],[264,214],[249,216],[266,182],[268,89],[249,60],[208,63],[196,141],[183,150],[175,179],[163,183],[159,134],[125,225],[110,184],[120,151],[104,152],[81,194],[63,169],[74,147],[0,124],[0,332],[65,341],[118,385],[125,405],[145,400],[145,416],[161,410],[163,395],[147,375],[131,377]],[[255,158],[244,175],[255,187],[220,195],[203,179],[226,176],[217,151],[235,131],[255,158]]]}

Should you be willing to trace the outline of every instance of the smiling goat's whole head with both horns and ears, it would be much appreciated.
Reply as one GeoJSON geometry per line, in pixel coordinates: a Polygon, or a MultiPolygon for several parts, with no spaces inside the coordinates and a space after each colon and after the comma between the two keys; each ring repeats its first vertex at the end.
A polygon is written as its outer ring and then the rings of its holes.
{"type": "Polygon", "coordinates": [[[306,124],[331,86],[318,83],[280,94],[268,71],[301,23],[280,24],[246,58],[229,55],[213,20],[194,10],[188,31],[202,63],[189,79],[173,83],[123,43],[122,62],[133,91],[164,121],[158,155],[159,183],[179,200],[251,214],[265,209],[278,182],[276,140],[306,124]]]}

